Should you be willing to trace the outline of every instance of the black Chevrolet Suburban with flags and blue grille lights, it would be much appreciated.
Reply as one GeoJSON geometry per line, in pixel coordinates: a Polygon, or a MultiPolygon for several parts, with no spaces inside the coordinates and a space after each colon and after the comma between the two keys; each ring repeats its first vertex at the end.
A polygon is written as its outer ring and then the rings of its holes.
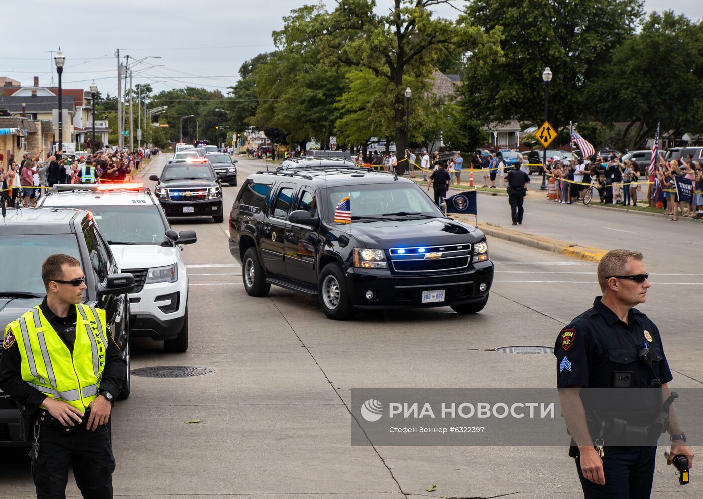
{"type": "Polygon", "coordinates": [[[494,272],[481,231],[444,215],[415,182],[366,168],[250,175],[232,208],[229,244],[249,295],[264,296],[271,284],[317,295],[330,319],[394,307],[473,314],[486,305],[494,272]],[[345,217],[351,222],[336,221],[345,217]]]}

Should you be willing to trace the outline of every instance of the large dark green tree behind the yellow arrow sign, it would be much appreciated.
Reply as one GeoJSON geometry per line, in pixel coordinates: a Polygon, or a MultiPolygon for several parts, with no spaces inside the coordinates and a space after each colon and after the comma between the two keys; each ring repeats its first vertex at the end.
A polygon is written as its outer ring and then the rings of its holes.
{"type": "Polygon", "coordinates": [[[632,36],[641,0],[475,0],[460,20],[498,36],[501,51],[472,53],[461,92],[474,117],[491,121],[544,119],[542,72],[554,74],[549,88],[552,125],[585,121],[593,112],[583,89],[632,36]]]}

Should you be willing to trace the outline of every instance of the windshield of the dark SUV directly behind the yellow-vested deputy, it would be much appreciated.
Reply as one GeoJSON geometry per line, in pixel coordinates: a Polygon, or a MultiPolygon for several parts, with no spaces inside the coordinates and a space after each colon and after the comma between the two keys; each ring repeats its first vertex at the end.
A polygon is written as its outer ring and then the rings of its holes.
{"type": "Polygon", "coordinates": [[[81,260],[75,234],[0,237],[0,254],[4,255],[0,258],[0,296],[11,296],[12,293],[32,293],[39,297],[46,295],[44,282],[41,281],[41,263],[55,253],[81,260]]]}

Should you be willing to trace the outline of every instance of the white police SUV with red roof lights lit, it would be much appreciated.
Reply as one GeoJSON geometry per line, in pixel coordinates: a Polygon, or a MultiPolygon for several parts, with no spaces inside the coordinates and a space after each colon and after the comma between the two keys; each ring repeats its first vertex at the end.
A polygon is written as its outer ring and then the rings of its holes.
{"type": "Polygon", "coordinates": [[[178,245],[195,243],[195,231],[171,229],[141,184],[54,185],[37,206],[91,211],[120,272],[134,275],[129,334],[163,340],[167,352],[188,350],[188,274],[178,245]]]}

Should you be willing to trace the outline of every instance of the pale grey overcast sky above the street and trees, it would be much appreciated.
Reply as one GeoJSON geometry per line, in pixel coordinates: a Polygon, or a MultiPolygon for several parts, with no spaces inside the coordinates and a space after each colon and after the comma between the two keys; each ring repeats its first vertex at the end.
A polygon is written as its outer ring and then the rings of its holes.
{"type": "MultiPolygon", "coordinates": [[[[192,85],[226,93],[228,86],[236,84],[240,65],[273,50],[271,32],[283,27],[282,18],[290,9],[304,3],[312,1],[3,2],[4,19],[12,21],[4,23],[0,76],[23,85],[31,85],[33,76],[39,76],[39,84],[49,84],[53,76],[56,83],[50,51],[60,46],[66,57],[65,88],[87,89],[94,79],[103,95],[115,95],[115,49],[120,48],[120,55],[129,55],[130,62],[160,56],[134,66],[134,84],[151,83],[155,91],[192,85]],[[115,5],[119,10],[113,13],[115,5]]],[[[334,3],[325,0],[328,6],[334,3]]],[[[391,2],[377,0],[377,4],[382,9],[391,2]]],[[[463,6],[465,1],[453,4],[463,6]]],[[[645,0],[645,8],[673,8],[692,19],[703,17],[701,0],[645,0]]],[[[437,13],[444,17],[458,14],[449,6],[438,6],[437,13]]]]}

